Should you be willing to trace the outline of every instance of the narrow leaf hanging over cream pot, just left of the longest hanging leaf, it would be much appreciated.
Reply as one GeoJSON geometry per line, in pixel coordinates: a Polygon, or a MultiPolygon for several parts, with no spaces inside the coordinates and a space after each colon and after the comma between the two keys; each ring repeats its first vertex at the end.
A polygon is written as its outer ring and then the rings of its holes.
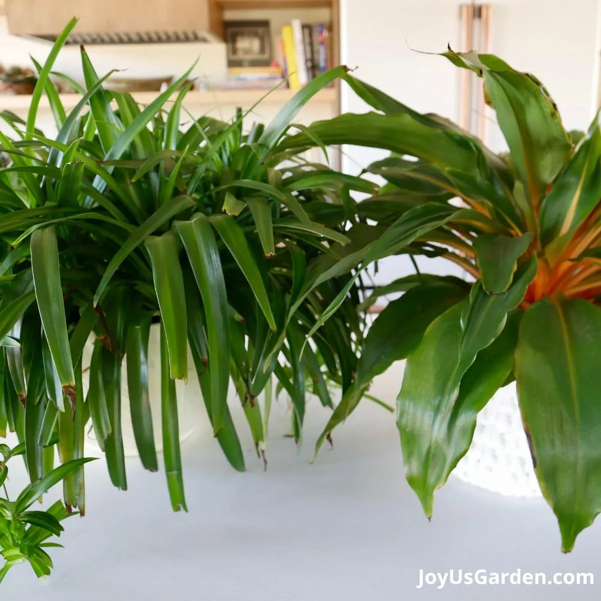
{"type": "Polygon", "coordinates": [[[132,415],[133,436],[145,469],[159,469],[154,447],[154,430],[148,393],[148,337],[150,317],[127,330],[127,392],[132,415]]]}

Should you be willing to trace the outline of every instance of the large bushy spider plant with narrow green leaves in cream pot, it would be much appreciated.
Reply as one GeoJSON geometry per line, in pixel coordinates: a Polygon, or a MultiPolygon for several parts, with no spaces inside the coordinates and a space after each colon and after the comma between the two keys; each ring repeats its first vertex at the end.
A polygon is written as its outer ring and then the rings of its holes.
{"type": "MultiPolygon", "coordinates": [[[[241,112],[232,123],[186,117],[189,72],[145,107],[105,91],[110,73],[99,78],[82,48],[85,87],[67,114],[48,76],[75,25],[37,66],[28,118],[2,114],[14,135],[0,134],[11,157],[0,170],[0,420],[24,442],[32,482],[47,473],[44,457],[57,437],[61,462],[83,456],[91,422],[112,483],[126,489],[126,385],[141,461],[156,471],[147,374],[148,332],[159,323],[163,460],[172,507],[185,510],[174,379],[187,377],[188,348],[234,468],[245,462],[227,404],[230,379],[257,453],[272,379],[290,396],[299,442],[307,381],[330,407],[328,384],[343,392],[352,385],[364,326],[356,310],[361,284],[349,272],[379,230],[347,231],[355,222],[350,192],[374,194],[377,186],[310,163],[302,149],[280,148],[302,106],[344,67],[314,79],[269,125],[246,132],[241,112]],[[35,128],[43,93],[55,138],[35,128]],[[341,310],[318,331],[317,320],[341,295],[341,310]],[[263,392],[261,414],[255,400],[263,392]]],[[[64,480],[68,511],[84,514],[84,490],[81,466],[64,480]]]]}

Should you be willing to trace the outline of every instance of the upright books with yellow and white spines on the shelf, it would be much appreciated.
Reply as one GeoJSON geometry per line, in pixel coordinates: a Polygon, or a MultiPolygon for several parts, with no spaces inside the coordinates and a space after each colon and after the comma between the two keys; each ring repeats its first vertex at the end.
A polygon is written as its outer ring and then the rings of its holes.
{"type": "Polygon", "coordinates": [[[292,19],[282,27],[279,54],[288,85],[298,90],[332,67],[332,37],[328,25],[292,19]]]}

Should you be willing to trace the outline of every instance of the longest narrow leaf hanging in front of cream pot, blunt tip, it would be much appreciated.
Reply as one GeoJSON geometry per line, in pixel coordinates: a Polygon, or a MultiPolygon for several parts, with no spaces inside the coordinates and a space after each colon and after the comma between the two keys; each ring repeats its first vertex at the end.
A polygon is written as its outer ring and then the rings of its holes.
{"type": "Polygon", "coordinates": [[[169,498],[174,511],[188,511],[184,496],[180,436],[177,421],[177,396],[175,382],[169,373],[169,355],[165,329],[160,329],[160,397],[163,425],[163,459],[169,498]]]}

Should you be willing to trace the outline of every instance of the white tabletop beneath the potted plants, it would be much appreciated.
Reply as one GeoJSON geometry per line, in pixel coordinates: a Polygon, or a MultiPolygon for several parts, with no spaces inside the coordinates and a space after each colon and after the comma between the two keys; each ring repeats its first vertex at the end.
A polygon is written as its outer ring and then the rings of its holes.
{"type": "MultiPolygon", "coordinates": [[[[394,402],[401,370],[372,391],[394,402]]],[[[205,426],[182,445],[189,513],[172,513],[162,472],[129,459],[128,492],[114,489],[103,460],[87,468],[87,516],[67,520],[46,582],[15,567],[2,601],[338,601],[401,599],[599,599],[601,526],[560,552],[551,510],[451,477],[432,522],[403,478],[394,416],[363,401],[311,464],[328,412],[311,403],[300,452],[285,401],[273,407],[269,468],[256,459],[243,416],[248,471],[238,474],[205,426]],[[594,586],[446,585],[416,589],[419,570],[592,572],[594,586]]],[[[242,418],[242,419],[240,419],[242,418]]],[[[22,475],[14,475],[16,487],[22,475]]],[[[53,490],[53,498],[60,493],[53,490]]]]}

